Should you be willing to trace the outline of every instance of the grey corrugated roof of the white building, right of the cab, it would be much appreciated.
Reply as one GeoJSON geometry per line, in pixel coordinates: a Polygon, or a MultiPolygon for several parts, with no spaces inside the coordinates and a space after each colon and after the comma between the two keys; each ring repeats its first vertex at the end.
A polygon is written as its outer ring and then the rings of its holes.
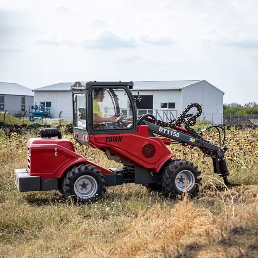
{"type": "Polygon", "coordinates": [[[202,80],[189,81],[134,81],[134,90],[177,90],[202,80]]]}

